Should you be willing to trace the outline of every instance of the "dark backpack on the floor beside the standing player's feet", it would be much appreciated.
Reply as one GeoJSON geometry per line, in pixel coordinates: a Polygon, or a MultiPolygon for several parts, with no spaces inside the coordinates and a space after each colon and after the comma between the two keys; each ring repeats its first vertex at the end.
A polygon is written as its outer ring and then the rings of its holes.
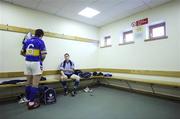
{"type": "Polygon", "coordinates": [[[47,86],[40,88],[40,100],[44,104],[56,103],[56,91],[47,86]]]}

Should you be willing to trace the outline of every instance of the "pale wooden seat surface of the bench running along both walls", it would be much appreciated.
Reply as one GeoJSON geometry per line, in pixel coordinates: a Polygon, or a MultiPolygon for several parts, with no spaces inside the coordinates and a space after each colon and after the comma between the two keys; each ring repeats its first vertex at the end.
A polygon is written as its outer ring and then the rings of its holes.
{"type": "MultiPolygon", "coordinates": [[[[159,85],[159,86],[165,86],[165,87],[172,87],[172,88],[178,88],[180,87],[180,78],[175,77],[159,77],[159,76],[142,76],[142,75],[121,75],[120,73],[112,73],[112,77],[103,77],[103,76],[92,76],[89,79],[97,79],[99,80],[100,84],[103,84],[101,81],[108,80],[108,81],[123,81],[125,83],[137,83],[139,85],[159,85]],[[164,79],[164,80],[163,80],[164,79]]],[[[88,80],[88,79],[81,79],[88,80]]],[[[97,81],[96,80],[96,81],[97,81]]],[[[40,81],[40,84],[56,84],[59,83],[58,79],[47,79],[45,81],[40,81]]],[[[11,88],[11,87],[23,87],[26,83],[18,83],[18,84],[4,84],[0,85],[0,88],[11,88]]],[[[107,84],[110,85],[110,84],[107,84]]]]}

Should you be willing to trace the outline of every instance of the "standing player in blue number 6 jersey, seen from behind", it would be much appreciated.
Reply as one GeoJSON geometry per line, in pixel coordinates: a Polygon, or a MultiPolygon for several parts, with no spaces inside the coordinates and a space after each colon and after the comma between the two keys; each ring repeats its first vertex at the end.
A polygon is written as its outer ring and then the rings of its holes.
{"type": "Polygon", "coordinates": [[[35,36],[24,42],[21,55],[25,56],[26,69],[24,74],[27,77],[27,86],[25,89],[28,109],[35,109],[40,106],[37,99],[39,94],[39,80],[42,74],[42,62],[46,57],[46,47],[42,37],[42,29],[35,31],[35,36]]]}

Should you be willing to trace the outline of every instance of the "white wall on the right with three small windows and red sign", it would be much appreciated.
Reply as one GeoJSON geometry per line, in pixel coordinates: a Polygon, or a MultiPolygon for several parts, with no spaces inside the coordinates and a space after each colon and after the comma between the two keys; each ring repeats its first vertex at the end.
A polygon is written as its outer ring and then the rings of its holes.
{"type": "Polygon", "coordinates": [[[144,70],[180,70],[180,1],[146,10],[100,29],[100,39],[111,34],[112,47],[99,49],[98,67],[144,70]],[[149,18],[149,22],[166,21],[168,39],[118,46],[120,36],[133,21],[149,18]]]}

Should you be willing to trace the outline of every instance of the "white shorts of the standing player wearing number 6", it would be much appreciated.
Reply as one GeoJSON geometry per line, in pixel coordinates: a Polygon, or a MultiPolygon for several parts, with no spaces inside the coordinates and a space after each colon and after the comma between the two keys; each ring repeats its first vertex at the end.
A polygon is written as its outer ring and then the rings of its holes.
{"type": "Polygon", "coordinates": [[[40,62],[26,61],[25,75],[40,75],[42,74],[42,66],[40,62]]]}

